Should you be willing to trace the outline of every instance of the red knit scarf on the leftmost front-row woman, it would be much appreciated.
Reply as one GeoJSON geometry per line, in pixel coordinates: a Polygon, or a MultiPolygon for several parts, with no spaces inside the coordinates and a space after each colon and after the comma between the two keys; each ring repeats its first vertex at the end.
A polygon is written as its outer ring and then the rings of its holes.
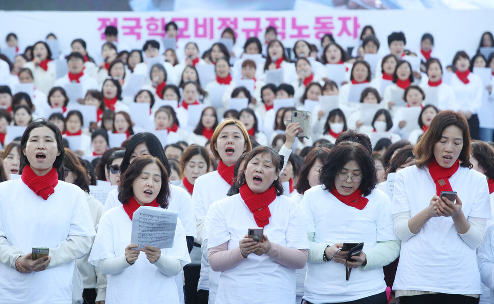
{"type": "Polygon", "coordinates": [[[45,175],[38,176],[34,173],[29,164],[22,170],[20,178],[24,184],[33,190],[36,195],[42,197],[43,200],[47,200],[48,197],[55,192],[54,188],[59,182],[59,175],[55,168],[51,168],[45,175]]]}

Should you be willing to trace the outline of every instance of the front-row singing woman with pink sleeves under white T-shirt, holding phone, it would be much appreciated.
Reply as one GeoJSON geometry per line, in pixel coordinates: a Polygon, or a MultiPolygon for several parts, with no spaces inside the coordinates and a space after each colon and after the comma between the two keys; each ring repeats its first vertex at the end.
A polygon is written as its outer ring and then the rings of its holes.
{"type": "Polygon", "coordinates": [[[282,196],[275,150],[257,147],[245,163],[240,193],[211,206],[206,218],[208,260],[211,269],[221,271],[215,302],[252,301],[252,295],[241,292],[240,278],[257,291],[257,302],[294,302],[295,269],[307,262],[303,218],[296,204],[282,196]],[[264,228],[262,242],[246,235],[249,227],[264,228]],[[266,275],[269,282],[259,280],[266,275]]]}

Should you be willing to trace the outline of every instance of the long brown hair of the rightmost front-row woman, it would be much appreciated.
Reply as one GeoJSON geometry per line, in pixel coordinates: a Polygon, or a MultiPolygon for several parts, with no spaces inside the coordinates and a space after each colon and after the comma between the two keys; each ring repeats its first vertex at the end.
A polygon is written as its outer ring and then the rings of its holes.
{"type": "Polygon", "coordinates": [[[434,145],[441,140],[443,131],[449,126],[458,127],[463,133],[463,148],[458,157],[461,167],[470,168],[470,129],[466,118],[461,113],[446,110],[438,113],[432,119],[429,128],[415,146],[414,154],[417,155],[415,164],[423,168],[434,158],[434,145]]]}

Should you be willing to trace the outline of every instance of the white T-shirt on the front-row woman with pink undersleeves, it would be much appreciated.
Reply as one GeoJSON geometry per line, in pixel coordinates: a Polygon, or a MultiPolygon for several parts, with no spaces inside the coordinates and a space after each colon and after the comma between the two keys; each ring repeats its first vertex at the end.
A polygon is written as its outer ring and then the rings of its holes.
{"type": "MultiPolygon", "coordinates": [[[[293,200],[278,196],[269,204],[269,210],[271,216],[269,224],[264,226],[264,234],[271,242],[296,249],[309,247],[303,217],[293,200]]],[[[248,229],[257,227],[240,194],[213,204],[207,217],[210,217],[208,248],[225,242],[229,250],[236,248],[248,229]]],[[[295,269],[267,255],[249,255],[234,268],[221,272],[215,303],[293,303],[295,283],[295,269]],[[246,286],[253,292],[245,292],[246,286]]]]}

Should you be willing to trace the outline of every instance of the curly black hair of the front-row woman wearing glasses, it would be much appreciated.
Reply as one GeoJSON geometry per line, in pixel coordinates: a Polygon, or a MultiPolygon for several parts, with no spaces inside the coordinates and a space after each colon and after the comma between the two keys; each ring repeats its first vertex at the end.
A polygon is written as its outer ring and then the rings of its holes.
{"type": "Polygon", "coordinates": [[[371,194],[378,180],[372,153],[361,144],[355,142],[343,142],[336,145],[324,162],[319,176],[319,182],[331,191],[335,186],[335,178],[338,177],[343,166],[351,160],[356,161],[362,172],[362,182],[359,189],[364,196],[371,194]]]}

